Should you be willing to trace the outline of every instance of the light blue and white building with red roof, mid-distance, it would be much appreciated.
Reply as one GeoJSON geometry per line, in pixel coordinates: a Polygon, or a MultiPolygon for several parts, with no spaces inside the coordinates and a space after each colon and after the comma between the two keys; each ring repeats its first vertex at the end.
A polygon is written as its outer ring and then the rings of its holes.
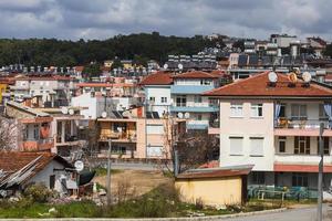
{"type": "Polygon", "coordinates": [[[216,117],[218,105],[203,93],[220,86],[221,75],[207,72],[186,72],[173,76],[170,113],[186,118],[187,129],[207,129],[216,117]]]}

